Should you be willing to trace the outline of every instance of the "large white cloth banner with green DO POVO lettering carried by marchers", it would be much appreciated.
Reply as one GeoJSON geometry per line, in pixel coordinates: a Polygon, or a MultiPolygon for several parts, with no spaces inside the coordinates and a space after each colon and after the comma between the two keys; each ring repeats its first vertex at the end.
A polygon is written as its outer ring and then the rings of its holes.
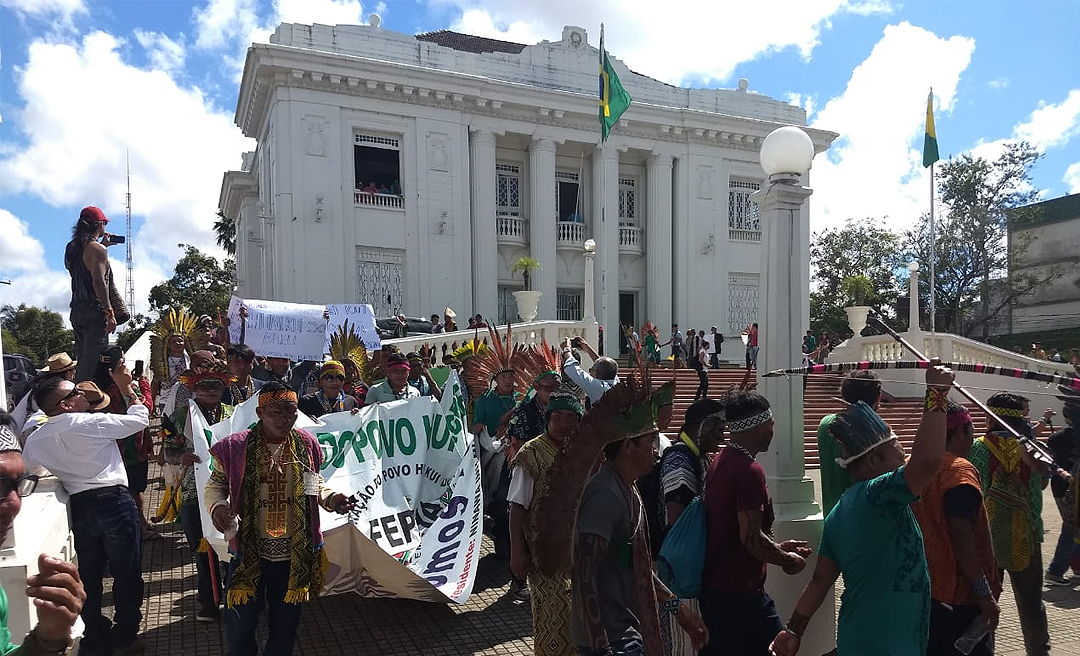
{"type": "MultiPolygon", "coordinates": [[[[380,403],[357,414],[335,413],[297,428],[322,446],[326,486],[356,497],[348,517],[320,510],[329,560],[324,594],[355,592],[464,603],[472,592],[483,534],[483,494],[475,439],[465,427],[462,384],[453,375],[442,401],[430,397],[380,403]]],[[[233,416],[207,426],[192,403],[203,534],[219,557],[225,539],[203,503],[210,445],[257,421],[258,397],[233,416]]]]}

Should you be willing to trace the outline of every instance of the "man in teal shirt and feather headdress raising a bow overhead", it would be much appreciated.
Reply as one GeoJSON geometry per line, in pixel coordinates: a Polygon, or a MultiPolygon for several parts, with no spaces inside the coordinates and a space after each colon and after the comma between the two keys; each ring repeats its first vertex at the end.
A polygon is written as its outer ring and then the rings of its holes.
{"type": "Polygon", "coordinates": [[[833,420],[829,431],[840,445],[840,465],[855,482],[825,520],[818,565],[773,640],[772,654],[795,656],[810,618],[841,573],[839,656],[926,654],[930,574],[910,504],[941,468],[951,384],[953,372],[934,360],[927,369],[922,420],[906,464],[896,434],[866,403],[833,420]]]}

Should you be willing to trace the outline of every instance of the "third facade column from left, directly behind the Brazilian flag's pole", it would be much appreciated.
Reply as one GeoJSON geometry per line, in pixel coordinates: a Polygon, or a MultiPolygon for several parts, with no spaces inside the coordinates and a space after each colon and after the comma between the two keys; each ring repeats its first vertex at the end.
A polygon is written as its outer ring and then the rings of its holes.
{"type": "Polygon", "coordinates": [[[619,349],[619,151],[593,150],[593,239],[596,240],[596,319],[604,329],[604,354],[619,349]],[[613,349],[613,350],[612,350],[613,349]]]}

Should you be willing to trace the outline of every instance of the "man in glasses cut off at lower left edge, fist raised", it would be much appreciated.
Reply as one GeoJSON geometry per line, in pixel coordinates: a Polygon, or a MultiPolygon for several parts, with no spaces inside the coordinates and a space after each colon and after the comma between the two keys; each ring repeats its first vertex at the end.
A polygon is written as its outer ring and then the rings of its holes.
{"type": "MultiPolygon", "coordinates": [[[[0,543],[8,537],[22,509],[23,497],[33,493],[37,486],[38,477],[26,473],[11,416],[0,411],[0,543]]],[[[26,634],[22,645],[15,645],[8,629],[8,595],[0,588],[0,655],[66,654],[71,645],[71,627],[86,599],[79,570],[67,561],[42,553],[38,557],[38,574],[26,579],[26,594],[33,598],[38,624],[26,634]]]]}

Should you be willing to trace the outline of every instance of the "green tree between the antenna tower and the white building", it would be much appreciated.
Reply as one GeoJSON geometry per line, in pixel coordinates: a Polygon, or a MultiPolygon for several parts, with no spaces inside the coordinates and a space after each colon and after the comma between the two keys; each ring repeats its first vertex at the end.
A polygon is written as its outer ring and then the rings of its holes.
{"type": "Polygon", "coordinates": [[[150,290],[150,309],[158,314],[168,308],[187,307],[198,314],[225,312],[237,286],[235,264],[219,263],[194,246],[187,246],[173,277],[150,290]]]}

